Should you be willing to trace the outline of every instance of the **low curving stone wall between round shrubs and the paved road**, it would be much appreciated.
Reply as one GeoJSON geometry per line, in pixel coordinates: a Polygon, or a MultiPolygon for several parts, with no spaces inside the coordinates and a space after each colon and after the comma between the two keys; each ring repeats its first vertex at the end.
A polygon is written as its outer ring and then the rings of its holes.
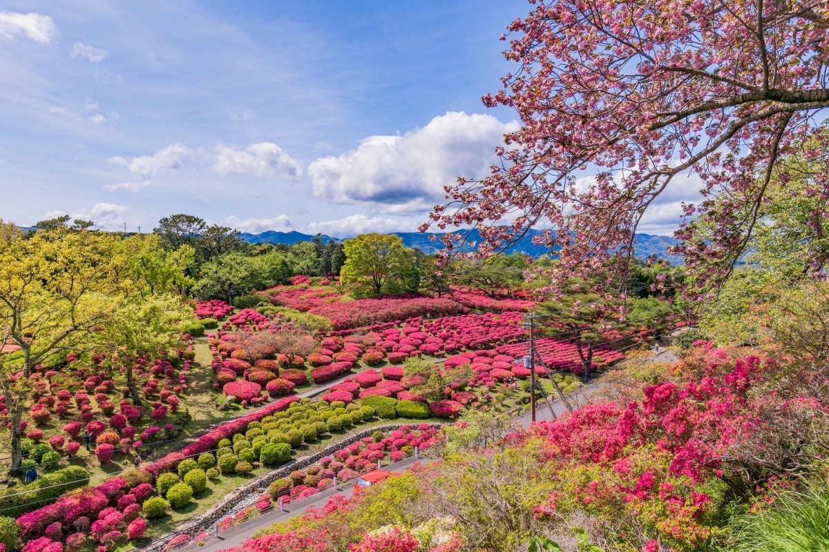
{"type": "MultiPolygon", "coordinates": [[[[216,502],[214,506],[211,506],[207,511],[201,514],[201,516],[197,516],[184,525],[177,527],[175,532],[162,535],[158,539],[153,540],[150,545],[139,550],[144,550],[146,552],[161,552],[164,546],[167,545],[167,542],[174,536],[189,535],[192,538],[199,531],[209,532],[217,521],[220,521],[231,511],[235,511],[236,505],[239,502],[247,497],[250,497],[251,495],[257,497],[264,495],[268,491],[270,484],[277,479],[287,478],[294,470],[305,469],[309,466],[313,466],[313,464],[318,463],[319,459],[323,456],[331,456],[338,450],[346,448],[349,444],[356,443],[364,437],[371,437],[371,434],[375,431],[388,433],[390,431],[399,430],[404,425],[411,426],[412,424],[389,424],[367,428],[366,430],[359,431],[356,434],[349,435],[346,439],[337,441],[335,444],[329,444],[325,449],[322,449],[315,454],[303,456],[302,458],[296,458],[295,460],[284,463],[279,468],[276,468],[269,473],[265,473],[264,475],[260,475],[258,478],[255,478],[245,486],[225,495],[224,498],[222,498],[219,502],[216,502]]],[[[431,428],[439,428],[440,426],[441,424],[429,424],[429,427],[431,428]]]]}

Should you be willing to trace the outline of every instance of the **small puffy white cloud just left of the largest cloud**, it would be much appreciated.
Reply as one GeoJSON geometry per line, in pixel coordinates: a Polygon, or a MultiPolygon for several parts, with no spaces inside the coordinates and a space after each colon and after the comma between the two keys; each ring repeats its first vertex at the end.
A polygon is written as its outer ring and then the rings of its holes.
{"type": "Polygon", "coordinates": [[[296,181],[303,166],[272,142],[250,144],[245,151],[219,147],[212,169],[219,175],[252,175],[296,181]]]}

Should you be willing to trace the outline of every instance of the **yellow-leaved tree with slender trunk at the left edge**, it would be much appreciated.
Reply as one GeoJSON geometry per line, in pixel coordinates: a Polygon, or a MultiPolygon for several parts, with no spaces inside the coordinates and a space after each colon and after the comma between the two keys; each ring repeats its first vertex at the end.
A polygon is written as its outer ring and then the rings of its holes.
{"type": "Polygon", "coordinates": [[[112,234],[65,228],[0,241],[0,337],[20,348],[0,355],[11,421],[12,471],[22,461],[23,409],[36,364],[94,343],[124,297],[112,234]]]}

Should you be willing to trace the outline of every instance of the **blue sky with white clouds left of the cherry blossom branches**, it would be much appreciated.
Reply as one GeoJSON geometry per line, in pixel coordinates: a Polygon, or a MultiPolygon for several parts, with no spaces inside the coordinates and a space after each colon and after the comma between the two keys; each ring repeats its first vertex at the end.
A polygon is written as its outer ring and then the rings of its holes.
{"type": "Polygon", "coordinates": [[[480,98],[514,69],[498,38],[530,9],[3,2],[0,218],[414,231],[516,127],[480,98]]]}

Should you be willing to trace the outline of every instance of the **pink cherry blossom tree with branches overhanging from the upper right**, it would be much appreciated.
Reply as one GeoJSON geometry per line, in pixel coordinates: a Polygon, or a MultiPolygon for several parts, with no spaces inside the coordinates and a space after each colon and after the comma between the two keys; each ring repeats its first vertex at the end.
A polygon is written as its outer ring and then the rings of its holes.
{"type": "MultiPolygon", "coordinates": [[[[572,276],[628,271],[643,215],[698,179],[701,201],[683,204],[676,251],[700,298],[749,247],[768,190],[785,188],[775,175],[789,154],[809,161],[814,174],[801,193],[814,223],[826,217],[824,3],[531,4],[508,26],[505,55],[517,69],[483,97],[514,108],[522,126],[497,148],[492,175],[448,186],[448,202],[422,229],[478,227],[486,256],[551,225],[540,241],[559,249],[546,288],[557,295],[572,276]]],[[[810,253],[821,266],[825,252],[810,253]]]]}

